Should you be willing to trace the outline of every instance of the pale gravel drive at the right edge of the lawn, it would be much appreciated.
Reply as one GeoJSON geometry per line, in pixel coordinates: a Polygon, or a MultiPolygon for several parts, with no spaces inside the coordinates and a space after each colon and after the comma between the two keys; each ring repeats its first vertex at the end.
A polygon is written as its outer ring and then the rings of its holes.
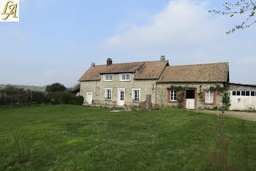
{"type": "MultiPolygon", "coordinates": [[[[214,111],[214,110],[203,110],[203,113],[212,113],[218,114],[222,112],[214,111]]],[[[256,113],[246,113],[246,112],[236,112],[236,111],[225,111],[224,115],[232,116],[235,118],[246,119],[249,121],[256,121],[256,113]]]]}

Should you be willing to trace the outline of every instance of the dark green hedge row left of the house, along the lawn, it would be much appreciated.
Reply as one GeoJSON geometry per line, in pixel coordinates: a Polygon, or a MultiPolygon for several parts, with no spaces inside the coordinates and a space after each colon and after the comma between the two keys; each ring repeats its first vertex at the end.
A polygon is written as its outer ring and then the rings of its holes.
{"type": "Polygon", "coordinates": [[[9,104],[83,104],[83,96],[69,92],[45,93],[38,91],[1,90],[0,105],[9,104]]]}

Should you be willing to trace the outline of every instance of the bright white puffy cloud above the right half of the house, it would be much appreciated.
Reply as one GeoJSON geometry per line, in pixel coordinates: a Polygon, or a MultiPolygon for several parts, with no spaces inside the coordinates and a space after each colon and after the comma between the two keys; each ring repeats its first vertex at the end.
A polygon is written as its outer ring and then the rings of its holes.
{"type": "Polygon", "coordinates": [[[105,40],[105,45],[118,49],[143,49],[148,47],[183,47],[217,39],[221,26],[208,16],[206,3],[170,1],[164,11],[151,17],[151,24],[133,26],[124,34],[105,40]]]}

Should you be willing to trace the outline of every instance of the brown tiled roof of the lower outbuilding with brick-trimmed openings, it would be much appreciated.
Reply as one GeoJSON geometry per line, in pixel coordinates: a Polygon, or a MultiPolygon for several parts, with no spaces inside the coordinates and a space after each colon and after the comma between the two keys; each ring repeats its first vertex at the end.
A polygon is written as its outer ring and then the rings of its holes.
{"type": "Polygon", "coordinates": [[[227,82],[228,63],[167,66],[161,82],[227,82]]]}

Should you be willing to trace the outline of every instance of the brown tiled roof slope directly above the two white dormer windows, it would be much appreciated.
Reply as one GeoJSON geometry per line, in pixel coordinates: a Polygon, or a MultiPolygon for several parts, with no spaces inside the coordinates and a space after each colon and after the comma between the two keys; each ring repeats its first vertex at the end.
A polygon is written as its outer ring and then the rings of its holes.
{"type": "Polygon", "coordinates": [[[131,62],[131,63],[121,63],[121,64],[111,64],[106,66],[106,69],[101,74],[113,74],[113,73],[124,73],[124,72],[135,72],[140,69],[145,62],[131,62]]]}

